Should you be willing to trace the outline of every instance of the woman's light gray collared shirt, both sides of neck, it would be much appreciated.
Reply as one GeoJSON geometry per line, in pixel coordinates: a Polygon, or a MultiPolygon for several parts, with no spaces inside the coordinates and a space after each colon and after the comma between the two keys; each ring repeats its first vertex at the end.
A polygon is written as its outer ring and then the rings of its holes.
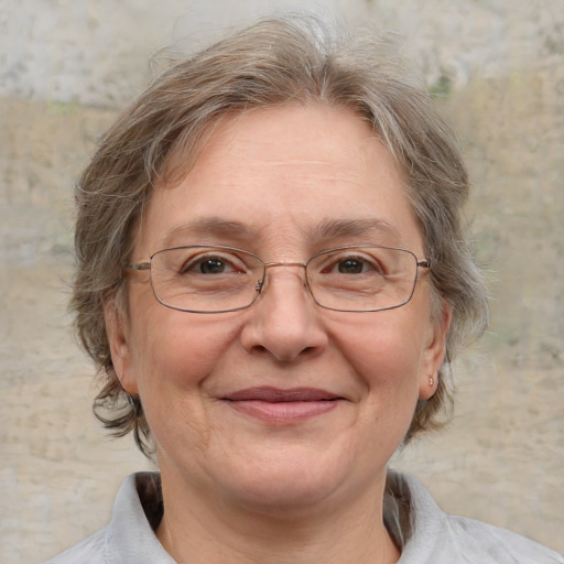
{"type": "MultiPolygon", "coordinates": [[[[45,564],[174,564],[154,529],[162,517],[160,476],[129,476],[108,527],[45,564]]],[[[564,564],[524,536],[443,512],[412,476],[390,471],[384,521],[401,547],[398,564],[564,564]]]]}

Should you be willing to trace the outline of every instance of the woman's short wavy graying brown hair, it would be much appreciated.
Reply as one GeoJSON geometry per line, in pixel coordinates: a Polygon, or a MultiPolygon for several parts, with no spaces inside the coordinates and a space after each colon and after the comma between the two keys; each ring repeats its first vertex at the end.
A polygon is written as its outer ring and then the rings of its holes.
{"type": "Polygon", "coordinates": [[[441,424],[452,406],[451,359],[484,332],[487,291],[464,237],[469,183],[457,141],[400,52],[389,35],[352,36],[314,18],[260,20],[164,72],[101,138],[76,187],[70,307],[79,340],[104,378],[94,411],[113,435],[133,432],[150,456],[142,403],[121,388],[113,369],[105,305],[124,307],[122,265],[152,191],[188,172],[223,116],[291,101],[352,109],[403,173],[432,260],[432,301],[453,312],[437,391],[419,401],[405,441],[441,424]]]}

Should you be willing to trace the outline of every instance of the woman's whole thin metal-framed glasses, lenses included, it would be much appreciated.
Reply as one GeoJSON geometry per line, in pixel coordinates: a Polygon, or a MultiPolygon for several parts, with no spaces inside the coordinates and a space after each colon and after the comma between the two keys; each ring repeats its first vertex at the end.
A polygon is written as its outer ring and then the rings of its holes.
{"type": "Polygon", "coordinates": [[[337,312],[379,312],[412,297],[419,261],[405,249],[358,245],[314,254],[306,262],[264,262],[252,252],[208,245],[175,247],[153,253],[149,262],[124,269],[149,270],[156,300],[173,310],[224,313],[252,305],[267,288],[267,270],[304,269],[304,285],[321,307],[337,312]]]}

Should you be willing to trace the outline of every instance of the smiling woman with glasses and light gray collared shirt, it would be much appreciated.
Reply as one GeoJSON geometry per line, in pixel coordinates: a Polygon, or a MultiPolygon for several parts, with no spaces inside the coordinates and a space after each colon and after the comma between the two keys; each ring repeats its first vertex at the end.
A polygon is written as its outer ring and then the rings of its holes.
{"type": "Polygon", "coordinates": [[[387,48],[261,21],[101,141],[73,305],[98,416],[160,474],[52,562],[564,562],[387,468],[487,319],[466,170],[387,48]]]}

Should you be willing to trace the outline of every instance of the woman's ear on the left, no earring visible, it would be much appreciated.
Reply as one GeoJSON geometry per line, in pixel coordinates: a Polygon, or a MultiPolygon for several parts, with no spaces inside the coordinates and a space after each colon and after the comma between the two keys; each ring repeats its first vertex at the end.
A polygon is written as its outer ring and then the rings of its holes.
{"type": "Polygon", "coordinates": [[[121,387],[129,393],[139,393],[133,370],[129,319],[122,310],[116,304],[115,299],[108,300],[104,304],[111,361],[121,387]]]}

